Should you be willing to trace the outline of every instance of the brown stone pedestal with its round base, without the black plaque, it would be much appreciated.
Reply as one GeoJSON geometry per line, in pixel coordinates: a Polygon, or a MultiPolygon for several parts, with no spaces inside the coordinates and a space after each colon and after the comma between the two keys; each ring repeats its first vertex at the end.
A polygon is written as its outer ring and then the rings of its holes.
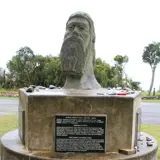
{"type": "Polygon", "coordinates": [[[146,145],[149,135],[145,133],[143,140],[137,141],[140,138],[140,101],[140,92],[116,96],[107,95],[105,89],[54,89],[33,93],[20,89],[19,128],[2,137],[2,160],[157,160],[158,146],[153,137],[151,147],[146,145]],[[56,115],[106,117],[105,152],[55,152],[56,115]],[[120,150],[132,155],[120,154],[120,150]]]}

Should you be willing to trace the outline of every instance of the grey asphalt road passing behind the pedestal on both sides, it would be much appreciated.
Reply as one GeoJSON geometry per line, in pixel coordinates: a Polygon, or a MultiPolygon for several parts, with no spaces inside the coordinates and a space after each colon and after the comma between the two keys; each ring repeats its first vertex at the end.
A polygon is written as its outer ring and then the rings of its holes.
{"type": "MultiPolygon", "coordinates": [[[[160,103],[141,103],[142,124],[160,125],[160,103]]],[[[0,98],[0,116],[18,111],[17,98],[0,98]]]]}

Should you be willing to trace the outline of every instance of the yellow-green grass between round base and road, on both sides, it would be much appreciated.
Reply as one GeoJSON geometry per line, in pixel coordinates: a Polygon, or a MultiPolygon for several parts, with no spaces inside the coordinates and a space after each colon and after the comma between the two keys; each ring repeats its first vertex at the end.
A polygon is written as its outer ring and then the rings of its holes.
{"type": "MultiPolygon", "coordinates": [[[[0,137],[11,130],[18,127],[17,114],[0,116],[0,137]]],[[[160,126],[142,125],[141,131],[146,132],[155,137],[160,144],[160,126]]],[[[158,149],[158,160],[160,160],[160,147],[158,149]]]]}

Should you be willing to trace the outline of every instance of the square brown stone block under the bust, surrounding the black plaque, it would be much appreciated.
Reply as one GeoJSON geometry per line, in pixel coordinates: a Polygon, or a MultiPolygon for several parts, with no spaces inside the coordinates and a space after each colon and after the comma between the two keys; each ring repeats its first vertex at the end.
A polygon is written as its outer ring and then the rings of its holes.
{"type": "Polygon", "coordinates": [[[107,152],[134,149],[140,93],[128,96],[97,96],[97,92],[99,91],[78,93],[53,90],[50,93],[26,93],[21,89],[19,107],[25,111],[25,147],[28,150],[54,151],[56,114],[103,114],[107,115],[107,152]]]}

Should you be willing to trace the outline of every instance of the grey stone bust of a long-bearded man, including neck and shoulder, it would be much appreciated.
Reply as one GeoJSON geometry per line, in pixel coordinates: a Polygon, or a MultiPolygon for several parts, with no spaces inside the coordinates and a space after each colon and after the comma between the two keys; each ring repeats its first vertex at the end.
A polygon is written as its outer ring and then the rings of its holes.
{"type": "Polygon", "coordinates": [[[101,88],[94,75],[94,23],[87,13],[76,12],[69,17],[60,57],[66,76],[64,88],[101,88]]]}

